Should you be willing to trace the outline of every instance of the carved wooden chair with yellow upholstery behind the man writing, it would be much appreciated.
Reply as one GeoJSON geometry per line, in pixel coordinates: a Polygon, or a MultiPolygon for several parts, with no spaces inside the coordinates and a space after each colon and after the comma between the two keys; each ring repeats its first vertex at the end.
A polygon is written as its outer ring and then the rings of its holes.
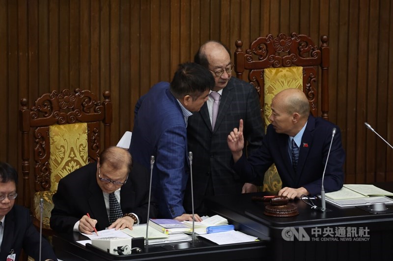
{"type": "Polygon", "coordinates": [[[103,96],[101,102],[88,90],[53,91],[39,97],[30,108],[27,99],[21,99],[23,204],[31,210],[33,223],[39,227],[39,200],[43,198],[45,235],[52,234],[49,219],[58,181],[97,160],[102,148],[100,122],[104,147],[111,145],[110,92],[104,91],[103,96]]]}

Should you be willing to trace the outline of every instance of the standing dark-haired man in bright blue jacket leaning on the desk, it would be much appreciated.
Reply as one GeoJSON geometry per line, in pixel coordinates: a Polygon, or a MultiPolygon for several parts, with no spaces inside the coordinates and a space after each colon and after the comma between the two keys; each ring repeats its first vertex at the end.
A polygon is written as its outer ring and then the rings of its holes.
{"type": "MultiPolygon", "coordinates": [[[[135,106],[129,152],[146,167],[150,156],[155,157],[152,192],[161,218],[192,220],[183,208],[189,178],[187,120],[200,110],[213,86],[209,70],[195,63],[181,64],[170,84],[154,85],[135,106]]],[[[196,220],[201,221],[198,215],[196,220]]]]}

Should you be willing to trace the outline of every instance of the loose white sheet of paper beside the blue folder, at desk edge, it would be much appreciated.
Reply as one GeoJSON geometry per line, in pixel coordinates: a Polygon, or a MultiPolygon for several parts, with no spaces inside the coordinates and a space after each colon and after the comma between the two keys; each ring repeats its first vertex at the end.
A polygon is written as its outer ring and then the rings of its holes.
{"type": "Polygon", "coordinates": [[[199,237],[204,237],[219,245],[253,242],[258,240],[258,237],[249,236],[247,234],[235,230],[199,235],[199,237]]]}

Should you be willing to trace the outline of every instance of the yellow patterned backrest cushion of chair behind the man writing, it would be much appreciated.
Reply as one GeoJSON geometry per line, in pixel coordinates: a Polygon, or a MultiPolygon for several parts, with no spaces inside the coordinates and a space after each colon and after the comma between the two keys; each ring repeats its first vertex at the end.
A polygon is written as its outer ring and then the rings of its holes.
{"type": "Polygon", "coordinates": [[[87,164],[87,124],[74,123],[49,127],[51,190],[72,171],[87,164]]]}

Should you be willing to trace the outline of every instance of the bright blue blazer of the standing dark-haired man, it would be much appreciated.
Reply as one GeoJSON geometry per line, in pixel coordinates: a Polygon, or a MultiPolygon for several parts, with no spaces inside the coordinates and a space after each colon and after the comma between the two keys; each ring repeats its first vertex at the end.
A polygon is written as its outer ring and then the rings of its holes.
{"type": "Polygon", "coordinates": [[[135,106],[129,152],[135,162],[149,169],[150,156],[155,157],[152,192],[162,218],[185,213],[183,196],[189,176],[187,151],[186,123],[181,107],[170,93],[169,83],[160,82],[140,97],[135,106]]]}

